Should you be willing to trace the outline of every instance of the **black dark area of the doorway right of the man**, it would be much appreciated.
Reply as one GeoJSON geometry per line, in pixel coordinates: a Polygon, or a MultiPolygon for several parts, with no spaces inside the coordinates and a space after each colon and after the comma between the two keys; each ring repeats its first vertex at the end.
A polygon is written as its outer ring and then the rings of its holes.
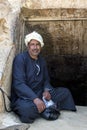
{"type": "Polygon", "coordinates": [[[46,60],[51,84],[69,88],[75,104],[87,106],[87,57],[50,55],[46,60]]]}

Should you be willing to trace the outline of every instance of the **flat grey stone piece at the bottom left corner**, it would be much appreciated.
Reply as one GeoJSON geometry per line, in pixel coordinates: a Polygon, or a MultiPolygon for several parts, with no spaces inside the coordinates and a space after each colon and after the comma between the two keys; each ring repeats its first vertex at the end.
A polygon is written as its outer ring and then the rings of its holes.
{"type": "Polygon", "coordinates": [[[17,125],[7,126],[5,128],[1,128],[0,130],[28,130],[30,127],[29,124],[21,123],[17,125]]]}

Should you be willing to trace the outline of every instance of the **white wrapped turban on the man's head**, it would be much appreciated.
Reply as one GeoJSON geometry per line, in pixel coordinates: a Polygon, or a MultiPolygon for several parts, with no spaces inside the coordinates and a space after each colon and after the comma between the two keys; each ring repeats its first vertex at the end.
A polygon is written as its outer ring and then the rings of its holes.
{"type": "Polygon", "coordinates": [[[32,33],[29,33],[28,35],[25,36],[25,45],[27,46],[28,43],[29,43],[32,39],[39,41],[40,44],[41,44],[41,47],[44,46],[42,36],[41,36],[39,33],[37,33],[36,31],[33,31],[32,33]]]}

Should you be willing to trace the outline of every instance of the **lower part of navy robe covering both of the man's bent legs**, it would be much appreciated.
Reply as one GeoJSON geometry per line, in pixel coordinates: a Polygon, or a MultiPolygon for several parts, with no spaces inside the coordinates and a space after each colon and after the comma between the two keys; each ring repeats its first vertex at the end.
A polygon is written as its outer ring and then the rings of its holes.
{"type": "MultiPolygon", "coordinates": [[[[60,110],[76,111],[75,104],[70,91],[67,88],[59,87],[54,89],[56,95],[51,93],[52,100],[57,104],[60,110]]],[[[30,100],[18,99],[14,105],[13,111],[19,116],[23,123],[32,123],[40,117],[37,107],[30,100]]]]}

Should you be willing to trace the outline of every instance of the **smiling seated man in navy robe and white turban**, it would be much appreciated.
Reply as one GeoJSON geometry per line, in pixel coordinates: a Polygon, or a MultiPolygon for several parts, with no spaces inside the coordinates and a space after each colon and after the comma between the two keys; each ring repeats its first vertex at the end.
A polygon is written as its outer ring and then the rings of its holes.
{"type": "Polygon", "coordinates": [[[60,110],[76,111],[67,88],[50,85],[45,60],[40,56],[43,38],[37,32],[25,37],[27,51],[18,54],[13,63],[12,110],[24,123],[32,123],[45,110],[42,97],[52,99],[60,110]]]}

